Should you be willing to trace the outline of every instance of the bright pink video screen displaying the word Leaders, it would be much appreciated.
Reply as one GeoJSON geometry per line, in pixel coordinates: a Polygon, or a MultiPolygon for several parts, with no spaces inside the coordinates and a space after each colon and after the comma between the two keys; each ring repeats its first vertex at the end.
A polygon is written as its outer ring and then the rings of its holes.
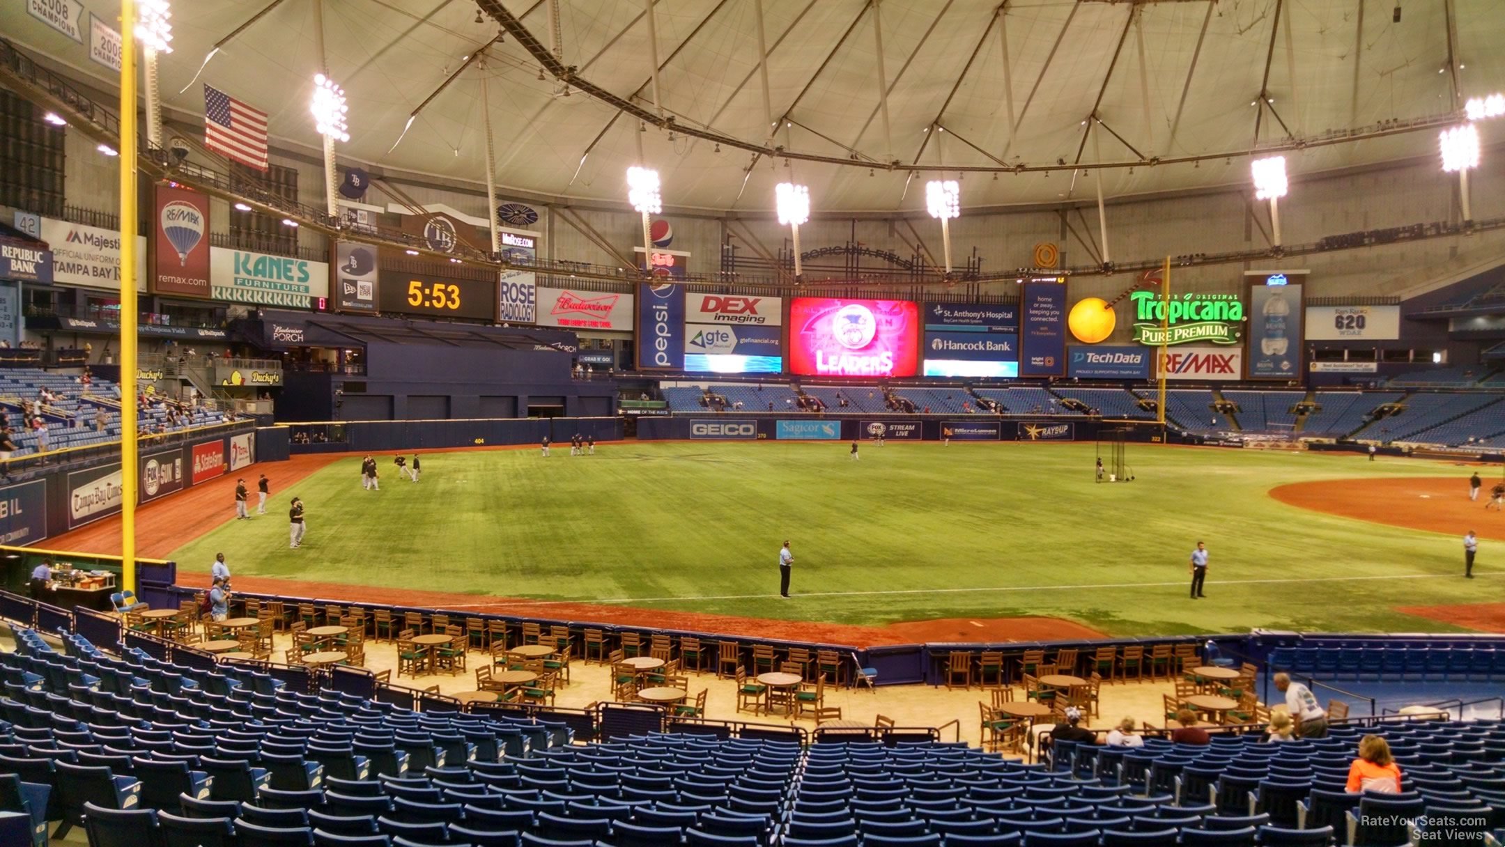
{"type": "Polygon", "coordinates": [[[795,298],[789,367],[805,376],[914,376],[918,317],[918,307],[900,299],[795,298]]]}

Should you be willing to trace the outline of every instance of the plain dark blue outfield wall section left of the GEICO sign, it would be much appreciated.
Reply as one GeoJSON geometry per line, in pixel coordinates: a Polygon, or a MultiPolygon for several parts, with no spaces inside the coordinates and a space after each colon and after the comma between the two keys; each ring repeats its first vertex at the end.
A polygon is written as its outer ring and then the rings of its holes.
{"type": "Polygon", "coordinates": [[[581,435],[596,441],[622,441],[622,418],[479,418],[433,421],[324,421],[283,424],[296,432],[324,432],[324,444],[292,444],[292,453],[390,453],[445,447],[507,447],[554,444],[581,435]]]}

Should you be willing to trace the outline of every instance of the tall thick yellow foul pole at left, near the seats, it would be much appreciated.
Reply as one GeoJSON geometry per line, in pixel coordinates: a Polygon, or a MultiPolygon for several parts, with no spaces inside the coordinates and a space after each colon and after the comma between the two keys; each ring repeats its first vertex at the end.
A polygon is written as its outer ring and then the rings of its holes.
{"type": "Polygon", "coordinates": [[[135,0],[120,0],[120,585],[135,591],[135,0]]]}

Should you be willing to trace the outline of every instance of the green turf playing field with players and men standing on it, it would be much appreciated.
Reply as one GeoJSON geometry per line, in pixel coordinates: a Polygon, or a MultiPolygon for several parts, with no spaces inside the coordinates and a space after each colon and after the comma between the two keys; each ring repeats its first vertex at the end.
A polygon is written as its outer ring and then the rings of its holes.
{"type": "MultiPolygon", "coordinates": [[[[238,575],[465,591],[784,620],[882,624],[1058,615],[1112,635],[1443,630],[1400,605],[1479,602],[1452,536],[1278,502],[1315,478],[1449,475],[1350,456],[1130,445],[1133,483],[1096,484],[1091,444],[605,444],[426,454],[423,481],[360,487],[343,459],[173,554],[238,575]],[[796,555],[781,600],[777,557],[796,555]],[[1212,551],[1204,600],[1187,555],[1212,551]],[[1421,575],[1401,579],[1398,576],[1421,575]],[[1376,579],[1385,578],[1385,579],[1376,579]]],[[[275,465],[268,466],[275,483],[275,465]]],[[[1461,478],[1461,477],[1460,477],[1461,478]]],[[[274,489],[275,490],[275,489],[274,489]]],[[[1362,496],[1356,489],[1354,496],[1362,496]]]]}

